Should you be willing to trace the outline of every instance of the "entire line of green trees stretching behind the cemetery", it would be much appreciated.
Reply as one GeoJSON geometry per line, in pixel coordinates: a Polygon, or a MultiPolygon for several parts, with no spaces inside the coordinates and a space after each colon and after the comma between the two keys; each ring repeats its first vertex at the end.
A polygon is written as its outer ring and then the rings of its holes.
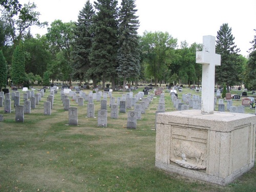
{"type": "MultiPolygon", "coordinates": [[[[202,66],[195,57],[202,45],[182,41],[178,46],[178,39],[168,32],[145,31],[139,36],[134,0],[122,0],[120,7],[115,0],[97,0],[94,5],[86,1],[76,22],[55,20],[45,35],[35,37],[30,27],[48,24],[39,21],[34,3],[22,6],[17,0],[5,0],[1,5],[0,73],[5,76],[0,87],[7,79],[17,86],[92,80],[94,87],[101,82],[102,88],[106,81],[112,87],[125,87],[127,82],[201,83],[202,66]]],[[[245,83],[248,89],[256,89],[255,36],[249,58],[239,54],[228,24],[220,27],[216,42],[216,53],[222,55],[216,84],[228,88],[245,83]]]]}

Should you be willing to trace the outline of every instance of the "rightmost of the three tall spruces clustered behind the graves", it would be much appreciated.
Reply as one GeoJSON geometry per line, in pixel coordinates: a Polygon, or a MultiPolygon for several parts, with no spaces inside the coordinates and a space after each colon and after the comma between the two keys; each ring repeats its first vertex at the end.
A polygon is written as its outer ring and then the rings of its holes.
{"type": "Polygon", "coordinates": [[[140,70],[140,51],[137,35],[139,20],[137,19],[138,16],[135,15],[137,12],[135,7],[134,0],[122,0],[119,11],[117,72],[118,76],[123,78],[123,91],[125,91],[126,78],[138,76],[140,70]]]}

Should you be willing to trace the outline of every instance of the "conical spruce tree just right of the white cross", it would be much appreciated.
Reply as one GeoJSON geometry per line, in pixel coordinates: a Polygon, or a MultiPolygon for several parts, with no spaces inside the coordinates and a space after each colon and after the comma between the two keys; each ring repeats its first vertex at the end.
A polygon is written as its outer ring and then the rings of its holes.
{"type": "Polygon", "coordinates": [[[239,72],[242,70],[238,54],[240,50],[234,44],[231,30],[228,24],[223,24],[217,32],[216,41],[216,53],[221,55],[221,66],[216,67],[215,81],[218,84],[226,83],[227,93],[229,86],[239,84],[239,72]]]}

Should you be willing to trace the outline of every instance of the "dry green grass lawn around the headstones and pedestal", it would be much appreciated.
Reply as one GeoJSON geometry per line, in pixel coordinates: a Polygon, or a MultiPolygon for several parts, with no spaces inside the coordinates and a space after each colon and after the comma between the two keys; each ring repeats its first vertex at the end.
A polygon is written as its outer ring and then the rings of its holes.
{"type": "MultiPolygon", "coordinates": [[[[133,94],[138,91],[142,88],[133,94]]],[[[200,94],[183,88],[178,97],[186,93],[200,94]]],[[[121,94],[113,92],[112,96],[121,94]]],[[[78,125],[74,126],[68,125],[68,111],[63,110],[59,92],[52,115],[44,115],[48,95],[49,90],[31,114],[25,114],[24,123],[15,122],[13,100],[11,114],[0,108],[4,115],[0,122],[0,191],[256,191],[255,166],[225,187],[155,168],[155,112],[160,96],[154,96],[134,130],[126,129],[129,109],[119,113],[118,119],[110,118],[110,98],[107,127],[98,127],[97,118],[86,117],[87,101],[78,106],[71,100],[70,106],[78,108],[78,125]]],[[[233,105],[241,102],[233,100],[233,105]]],[[[97,117],[100,102],[94,104],[97,117]]],[[[165,111],[175,111],[166,91],[165,111]]],[[[254,112],[245,107],[245,113],[254,112]]]]}

